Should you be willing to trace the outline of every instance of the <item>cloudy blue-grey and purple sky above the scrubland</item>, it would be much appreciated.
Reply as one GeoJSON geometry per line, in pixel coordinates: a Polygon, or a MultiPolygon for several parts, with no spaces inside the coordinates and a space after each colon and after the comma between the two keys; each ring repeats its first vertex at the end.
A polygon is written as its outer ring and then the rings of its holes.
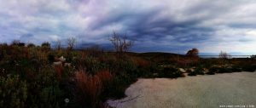
{"type": "Polygon", "coordinates": [[[111,48],[113,31],[134,52],[256,54],[254,0],[0,0],[0,43],[111,48]]]}

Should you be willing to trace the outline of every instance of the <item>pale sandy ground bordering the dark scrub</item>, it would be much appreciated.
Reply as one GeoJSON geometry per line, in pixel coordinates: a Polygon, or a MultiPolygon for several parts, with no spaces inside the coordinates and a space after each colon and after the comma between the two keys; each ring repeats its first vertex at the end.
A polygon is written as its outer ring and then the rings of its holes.
{"type": "Polygon", "coordinates": [[[108,105],[117,108],[218,108],[219,105],[254,105],[256,108],[256,72],[177,79],[142,78],[131,84],[125,94],[127,97],[124,99],[109,99],[108,105]]]}

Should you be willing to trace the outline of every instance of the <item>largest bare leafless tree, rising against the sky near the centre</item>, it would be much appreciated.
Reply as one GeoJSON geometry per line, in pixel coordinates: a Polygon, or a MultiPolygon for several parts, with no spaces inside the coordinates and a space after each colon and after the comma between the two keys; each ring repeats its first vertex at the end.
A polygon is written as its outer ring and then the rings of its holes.
{"type": "Polygon", "coordinates": [[[133,45],[133,41],[127,39],[127,35],[120,37],[115,31],[113,31],[113,36],[109,39],[113,44],[113,48],[117,53],[127,52],[129,48],[133,45]]]}

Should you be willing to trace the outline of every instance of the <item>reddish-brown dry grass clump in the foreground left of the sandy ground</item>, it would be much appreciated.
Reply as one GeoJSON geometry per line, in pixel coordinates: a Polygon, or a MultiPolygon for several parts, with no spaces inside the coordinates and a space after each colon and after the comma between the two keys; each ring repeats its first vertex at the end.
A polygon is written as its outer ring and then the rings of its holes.
{"type": "Polygon", "coordinates": [[[100,94],[102,94],[104,83],[112,79],[112,75],[108,70],[102,70],[92,76],[84,71],[76,72],[75,78],[77,81],[77,98],[84,106],[92,108],[102,107],[100,94]]]}

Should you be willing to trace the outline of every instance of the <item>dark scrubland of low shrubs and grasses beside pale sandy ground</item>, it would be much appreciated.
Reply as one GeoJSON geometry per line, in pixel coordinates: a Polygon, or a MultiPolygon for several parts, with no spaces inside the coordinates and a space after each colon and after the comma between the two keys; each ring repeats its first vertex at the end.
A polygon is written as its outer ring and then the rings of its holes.
{"type": "Polygon", "coordinates": [[[112,39],[116,52],[98,46],[74,50],[75,39],[50,43],[0,44],[0,107],[108,107],[107,99],[125,96],[138,77],[185,77],[224,72],[255,71],[254,59],[201,59],[198,49],[187,55],[129,53],[133,42],[112,39]],[[121,44],[119,44],[121,42],[121,44]]]}

